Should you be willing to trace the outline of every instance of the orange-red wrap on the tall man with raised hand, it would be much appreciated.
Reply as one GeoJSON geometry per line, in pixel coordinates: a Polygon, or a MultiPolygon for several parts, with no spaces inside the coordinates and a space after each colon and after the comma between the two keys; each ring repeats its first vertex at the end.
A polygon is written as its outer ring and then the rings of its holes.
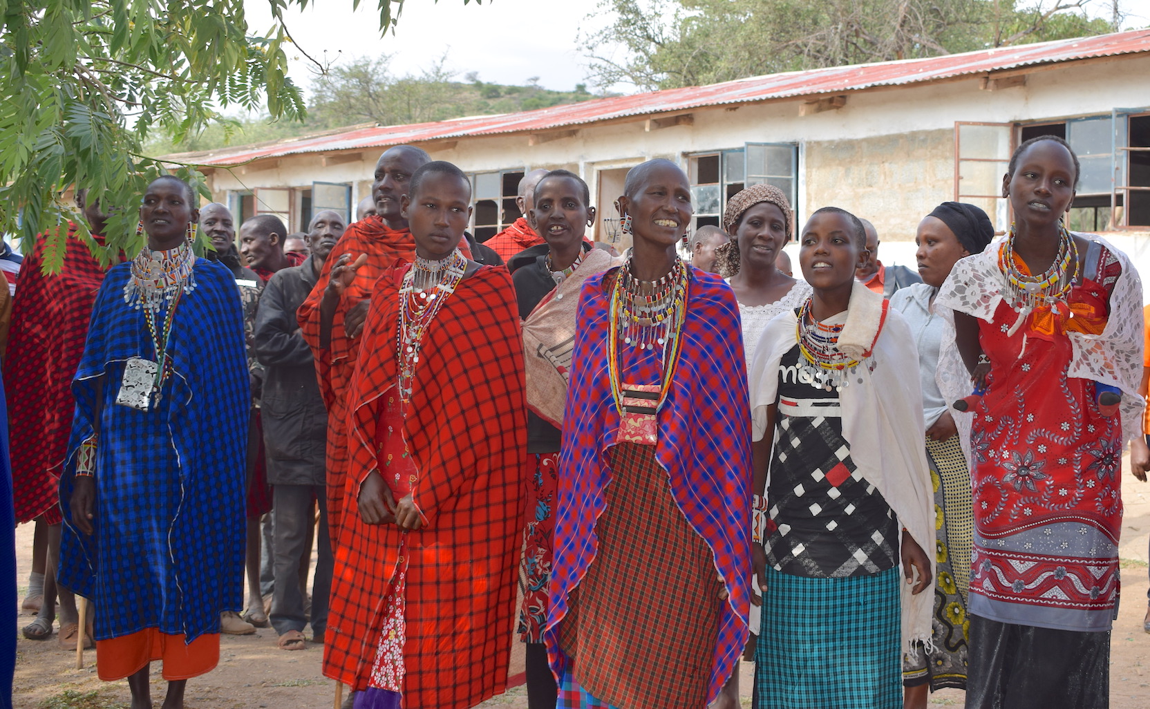
{"type": "Polygon", "coordinates": [[[415,239],[406,229],[389,229],[379,216],[354,222],[331,248],[315,287],[297,311],[300,331],[315,356],[320,393],[328,407],[328,531],[332,540],[339,539],[344,476],[347,473],[347,387],[355,371],[360,346],[358,340],[344,334],[344,317],[352,306],[371,295],[376,279],[397,260],[411,261],[414,257],[415,239]],[[343,254],[351,254],[352,261],[360,254],[367,254],[367,262],[359,268],[355,280],[344,291],[336,307],[330,347],[324,349],[320,347],[320,301],[331,278],[331,267],[343,254]]]}

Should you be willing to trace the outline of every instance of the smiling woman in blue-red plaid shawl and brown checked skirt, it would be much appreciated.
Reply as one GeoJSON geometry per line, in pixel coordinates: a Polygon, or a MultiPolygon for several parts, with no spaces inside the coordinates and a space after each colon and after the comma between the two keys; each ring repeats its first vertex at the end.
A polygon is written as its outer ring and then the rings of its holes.
{"type": "Polygon", "coordinates": [[[747,638],[738,303],[675,253],[692,213],[677,165],[632,169],[619,206],[631,257],[580,295],[544,637],[560,708],[702,709],[747,638]]]}

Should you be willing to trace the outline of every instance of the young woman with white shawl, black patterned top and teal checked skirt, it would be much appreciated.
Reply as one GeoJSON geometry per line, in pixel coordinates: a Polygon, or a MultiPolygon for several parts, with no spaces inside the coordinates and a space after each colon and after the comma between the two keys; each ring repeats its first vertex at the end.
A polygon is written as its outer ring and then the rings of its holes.
{"type": "Polygon", "coordinates": [[[811,216],[811,296],[767,325],[750,370],[758,709],[898,709],[900,650],[930,638],[918,356],[903,317],[854,282],[865,242],[848,211],[811,216]]]}

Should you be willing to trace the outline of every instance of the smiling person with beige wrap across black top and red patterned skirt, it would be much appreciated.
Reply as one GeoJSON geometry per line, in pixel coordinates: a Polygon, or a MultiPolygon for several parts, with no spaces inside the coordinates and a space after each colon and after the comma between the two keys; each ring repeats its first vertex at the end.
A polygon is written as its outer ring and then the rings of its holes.
{"type": "Polygon", "coordinates": [[[547,617],[553,514],[564,403],[575,337],[580,288],[588,277],[620,263],[583,238],[595,222],[590,191],[567,170],[547,172],[535,188],[527,221],[546,241],[507,262],[515,284],[526,347],[527,453],[532,465],[528,480],[528,523],[523,530],[520,585],[520,638],[527,644],[527,695],[530,709],[555,706],[558,687],[547,666],[543,626],[547,617]]]}

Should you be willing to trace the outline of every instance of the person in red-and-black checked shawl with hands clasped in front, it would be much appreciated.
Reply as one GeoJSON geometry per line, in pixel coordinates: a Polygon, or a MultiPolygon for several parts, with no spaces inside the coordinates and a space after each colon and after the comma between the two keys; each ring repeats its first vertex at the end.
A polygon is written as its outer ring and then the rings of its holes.
{"type": "Polygon", "coordinates": [[[356,709],[474,707],[507,681],[523,342],[506,269],[458,249],[469,203],[451,163],[412,176],[415,263],[376,282],[352,377],[323,671],[356,709]]]}

